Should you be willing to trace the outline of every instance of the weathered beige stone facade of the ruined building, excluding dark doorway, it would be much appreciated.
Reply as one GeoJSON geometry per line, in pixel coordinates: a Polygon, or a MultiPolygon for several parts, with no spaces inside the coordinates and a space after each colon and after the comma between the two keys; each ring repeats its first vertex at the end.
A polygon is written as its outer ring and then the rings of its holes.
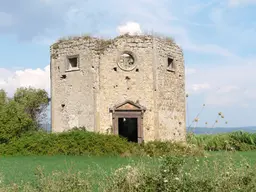
{"type": "Polygon", "coordinates": [[[118,134],[118,106],[119,114],[142,114],[140,141],[185,140],[183,52],[169,39],[58,41],[51,46],[51,94],[54,132],[84,126],[118,134]]]}

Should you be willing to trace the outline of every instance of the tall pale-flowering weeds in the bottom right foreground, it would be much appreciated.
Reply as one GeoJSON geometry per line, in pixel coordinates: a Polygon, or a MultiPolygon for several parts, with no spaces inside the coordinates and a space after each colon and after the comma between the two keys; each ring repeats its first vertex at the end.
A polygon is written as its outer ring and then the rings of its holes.
{"type": "Polygon", "coordinates": [[[243,192],[255,189],[255,181],[255,168],[247,162],[237,166],[227,157],[224,162],[195,159],[190,164],[184,157],[173,156],[164,158],[154,169],[142,163],[115,171],[104,191],[243,192]]]}

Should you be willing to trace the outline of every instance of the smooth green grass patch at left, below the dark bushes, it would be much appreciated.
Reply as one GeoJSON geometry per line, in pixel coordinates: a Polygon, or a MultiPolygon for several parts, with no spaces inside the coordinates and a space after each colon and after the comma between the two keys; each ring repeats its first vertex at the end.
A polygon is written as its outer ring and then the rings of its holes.
{"type": "MultiPolygon", "coordinates": [[[[156,166],[157,162],[149,157],[113,157],[113,156],[15,156],[0,158],[0,180],[2,184],[11,185],[16,183],[23,185],[30,182],[36,183],[36,175],[39,170],[45,176],[52,172],[63,174],[77,173],[81,171],[81,177],[90,177],[90,183],[98,182],[110,173],[133,162],[143,161],[144,163],[156,166]],[[88,176],[90,175],[90,176],[88,176]]],[[[97,184],[97,183],[96,183],[97,184]]]]}

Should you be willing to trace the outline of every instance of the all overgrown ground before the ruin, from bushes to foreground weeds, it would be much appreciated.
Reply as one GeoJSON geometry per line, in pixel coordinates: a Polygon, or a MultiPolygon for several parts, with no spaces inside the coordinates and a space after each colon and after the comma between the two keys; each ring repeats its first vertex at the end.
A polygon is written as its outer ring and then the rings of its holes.
{"type": "Polygon", "coordinates": [[[249,152],[248,161],[236,152],[256,149],[256,134],[189,134],[187,141],[139,145],[76,129],[27,133],[0,145],[1,155],[16,156],[0,158],[0,191],[222,192],[256,187],[256,155],[249,152]]]}

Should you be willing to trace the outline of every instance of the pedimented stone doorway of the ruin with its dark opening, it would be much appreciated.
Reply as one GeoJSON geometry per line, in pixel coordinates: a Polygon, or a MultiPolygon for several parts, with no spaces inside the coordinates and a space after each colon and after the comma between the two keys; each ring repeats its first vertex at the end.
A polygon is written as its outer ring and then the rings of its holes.
{"type": "Polygon", "coordinates": [[[132,101],[115,105],[110,112],[113,119],[113,132],[128,141],[143,142],[143,114],[145,107],[132,101]]]}

